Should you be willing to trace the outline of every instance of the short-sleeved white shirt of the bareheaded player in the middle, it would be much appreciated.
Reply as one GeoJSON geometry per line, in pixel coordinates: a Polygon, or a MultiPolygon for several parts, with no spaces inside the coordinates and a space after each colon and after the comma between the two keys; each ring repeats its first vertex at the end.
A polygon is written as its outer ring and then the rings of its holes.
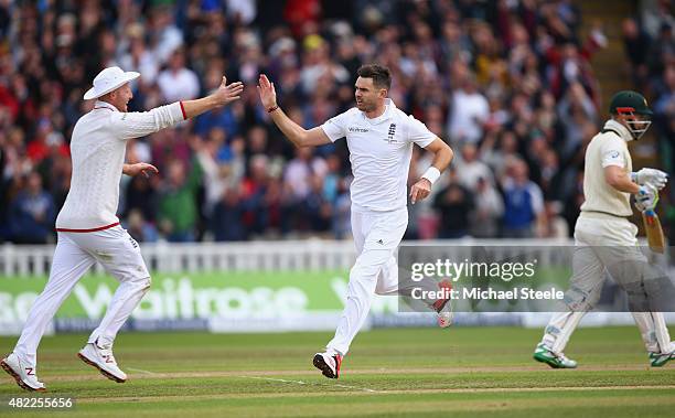
{"type": "Polygon", "coordinates": [[[369,211],[394,211],[407,205],[406,183],[413,143],[427,147],[437,137],[425,124],[386,99],[386,109],[369,119],[353,107],[329,119],[321,129],[336,141],[346,137],[354,181],[352,204],[369,211]]]}

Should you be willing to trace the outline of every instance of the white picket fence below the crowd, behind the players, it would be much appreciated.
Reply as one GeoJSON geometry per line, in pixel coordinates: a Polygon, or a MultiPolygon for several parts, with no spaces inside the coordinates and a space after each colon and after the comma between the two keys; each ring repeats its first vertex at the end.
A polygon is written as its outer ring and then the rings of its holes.
{"type": "MultiPolygon", "coordinates": [[[[458,246],[496,246],[507,258],[527,247],[540,261],[560,256],[560,246],[571,246],[571,239],[458,239],[404,242],[405,245],[444,247],[452,257],[458,246]]],[[[244,243],[144,243],[142,254],[151,271],[308,271],[349,269],[355,259],[351,240],[259,240],[244,243]]],[[[54,245],[0,246],[0,277],[46,276],[54,255],[54,245]]],[[[99,264],[95,272],[103,272],[99,264]]]]}

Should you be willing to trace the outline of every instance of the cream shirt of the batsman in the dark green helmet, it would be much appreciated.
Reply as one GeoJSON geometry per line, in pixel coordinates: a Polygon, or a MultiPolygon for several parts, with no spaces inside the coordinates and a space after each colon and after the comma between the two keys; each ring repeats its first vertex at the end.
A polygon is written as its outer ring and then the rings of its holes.
{"type": "Polygon", "coordinates": [[[632,140],[631,132],[615,120],[604,124],[604,132],[591,139],[586,149],[583,168],[583,196],[586,202],[581,205],[585,212],[603,212],[615,216],[631,216],[631,195],[612,187],[604,180],[604,168],[617,165],[625,169],[628,173],[633,170],[628,141],[632,140]]]}

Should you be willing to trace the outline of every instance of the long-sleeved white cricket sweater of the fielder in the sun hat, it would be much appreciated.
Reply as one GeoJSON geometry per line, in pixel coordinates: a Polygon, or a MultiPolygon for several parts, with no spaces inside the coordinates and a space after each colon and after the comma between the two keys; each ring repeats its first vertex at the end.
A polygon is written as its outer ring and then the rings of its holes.
{"type": "Polygon", "coordinates": [[[150,111],[120,112],[96,101],[73,129],[71,190],[56,217],[56,231],[92,232],[119,224],[119,181],[127,140],[143,137],[185,119],[176,101],[150,111]]]}

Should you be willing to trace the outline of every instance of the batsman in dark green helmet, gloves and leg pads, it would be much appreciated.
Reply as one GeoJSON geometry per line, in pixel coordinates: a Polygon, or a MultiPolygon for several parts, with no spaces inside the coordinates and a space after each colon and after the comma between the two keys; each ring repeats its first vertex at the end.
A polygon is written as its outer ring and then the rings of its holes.
{"type": "MultiPolygon", "coordinates": [[[[575,226],[575,253],[570,288],[565,308],[554,313],[534,358],[554,368],[575,368],[577,362],[564,351],[583,314],[600,299],[604,272],[626,291],[650,363],[663,366],[675,358],[675,343],[663,313],[654,312],[647,277],[649,262],[638,247],[638,227],[629,217],[631,194],[640,212],[653,211],[667,174],[655,169],[633,172],[628,142],[640,139],[651,125],[652,110],[636,92],[617,93],[610,104],[611,118],[588,144],[585,158],[583,194],[586,202],[575,226]]],[[[663,277],[661,278],[663,281],[663,277]]],[[[665,278],[667,281],[667,278],[665,278]]]]}

